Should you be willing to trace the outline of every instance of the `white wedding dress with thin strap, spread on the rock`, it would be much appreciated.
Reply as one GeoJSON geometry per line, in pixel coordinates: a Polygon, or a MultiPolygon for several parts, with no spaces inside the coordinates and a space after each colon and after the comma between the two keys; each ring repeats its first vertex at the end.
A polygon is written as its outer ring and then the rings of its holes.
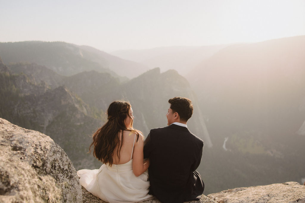
{"type": "Polygon", "coordinates": [[[77,171],[80,184],[87,191],[109,203],[130,203],[153,199],[154,197],[148,194],[148,170],[138,177],[132,171],[134,146],[135,139],[131,157],[127,163],[112,164],[111,167],[108,164],[103,164],[99,169],[77,171]]]}

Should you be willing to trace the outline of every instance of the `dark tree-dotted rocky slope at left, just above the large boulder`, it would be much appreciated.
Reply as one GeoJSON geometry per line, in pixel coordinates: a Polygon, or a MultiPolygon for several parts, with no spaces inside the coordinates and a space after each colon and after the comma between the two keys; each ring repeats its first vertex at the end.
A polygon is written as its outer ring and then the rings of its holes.
{"type": "Polygon", "coordinates": [[[100,126],[103,115],[63,86],[49,89],[32,75],[0,71],[0,117],[49,135],[77,168],[100,164],[87,154],[88,135],[100,126]]]}

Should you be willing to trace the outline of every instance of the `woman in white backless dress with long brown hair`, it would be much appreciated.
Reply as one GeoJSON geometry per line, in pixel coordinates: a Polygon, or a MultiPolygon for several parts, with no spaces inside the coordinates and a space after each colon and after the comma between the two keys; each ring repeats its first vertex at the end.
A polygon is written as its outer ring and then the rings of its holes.
{"type": "Polygon", "coordinates": [[[108,121],[93,134],[93,155],[104,164],[95,170],[77,171],[80,184],[100,199],[110,202],[139,202],[148,194],[149,159],[143,161],[144,137],[132,127],[129,102],[115,101],[108,107],[108,121]]]}

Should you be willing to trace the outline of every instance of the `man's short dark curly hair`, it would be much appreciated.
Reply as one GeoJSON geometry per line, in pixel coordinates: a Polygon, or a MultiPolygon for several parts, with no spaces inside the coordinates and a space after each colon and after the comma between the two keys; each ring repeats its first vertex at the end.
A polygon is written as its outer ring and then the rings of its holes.
{"type": "Polygon", "coordinates": [[[170,108],[173,112],[177,112],[183,121],[188,121],[193,114],[193,104],[188,98],[176,96],[169,99],[168,103],[170,103],[170,108]]]}

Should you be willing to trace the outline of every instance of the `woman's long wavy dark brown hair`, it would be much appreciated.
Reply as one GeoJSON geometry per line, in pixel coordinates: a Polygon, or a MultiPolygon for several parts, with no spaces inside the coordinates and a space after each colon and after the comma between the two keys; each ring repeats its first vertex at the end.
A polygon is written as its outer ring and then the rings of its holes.
{"type": "Polygon", "coordinates": [[[137,142],[139,139],[139,131],[133,129],[132,123],[133,119],[129,115],[131,109],[131,105],[127,101],[114,101],[112,102],[107,110],[108,121],[99,128],[93,134],[93,142],[89,147],[89,151],[91,152],[91,147],[93,146],[93,156],[102,161],[103,163],[109,164],[112,166],[113,164],[113,151],[116,146],[117,148],[117,156],[120,160],[120,151],[123,145],[123,136],[120,142],[120,132],[123,135],[123,131],[132,131],[137,135],[137,142]],[[125,126],[125,119],[130,117],[131,119],[131,128],[127,128],[125,126]]]}

